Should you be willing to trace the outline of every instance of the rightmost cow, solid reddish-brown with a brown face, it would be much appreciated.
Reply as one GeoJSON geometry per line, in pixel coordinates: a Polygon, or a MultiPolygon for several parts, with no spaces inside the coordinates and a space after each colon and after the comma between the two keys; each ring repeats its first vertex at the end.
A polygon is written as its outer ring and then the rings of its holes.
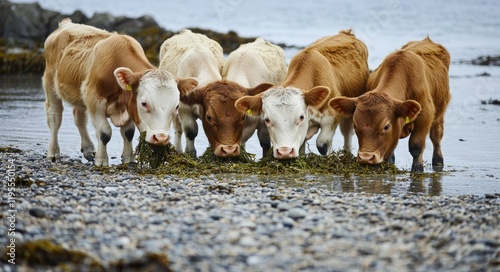
{"type": "Polygon", "coordinates": [[[370,75],[367,92],[357,98],[337,97],[330,107],[353,116],[359,141],[357,161],[394,163],[399,138],[410,135],[412,172],[422,172],[425,139],[434,146],[432,166],[443,167],[441,139],[444,113],[451,99],[448,69],[450,54],[429,37],[413,41],[388,55],[370,75]]]}

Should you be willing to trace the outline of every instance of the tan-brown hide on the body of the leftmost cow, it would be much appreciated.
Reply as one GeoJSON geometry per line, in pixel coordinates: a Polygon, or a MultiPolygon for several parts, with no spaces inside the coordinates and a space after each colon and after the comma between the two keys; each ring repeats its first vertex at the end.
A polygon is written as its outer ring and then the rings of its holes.
{"type": "Polygon", "coordinates": [[[123,92],[113,71],[118,67],[128,67],[135,72],[136,76],[128,79],[128,84],[135,90],[141,76],[155,69],[141,45],[127,35],[74,25],[78,27],[77,31],[62,27],[45,42],[47,65],[44,78],[54,78],[59,86],[64,86],[59,88],[59,95],[72,105],[86,106],[93,113],[96,103],[90,100],[105,98],[108,105],[117,102],[117,110],[128,110],[131,118],[139,123],[135,92],[123,92]],[[80,91],[82,82],[88,92],[85,97],[80,91]]]}

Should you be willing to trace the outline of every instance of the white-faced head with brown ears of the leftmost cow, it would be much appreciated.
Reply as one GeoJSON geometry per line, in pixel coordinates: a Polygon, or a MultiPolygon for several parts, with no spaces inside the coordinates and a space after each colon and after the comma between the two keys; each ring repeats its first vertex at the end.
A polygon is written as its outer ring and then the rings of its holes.
{"type": "Polygon", "coordinates": [[[114,75],[124,92],[132,92],[128,111],[140,132],[146,132],[146,141],[166,145],[169,130],[177,114],[180,96],[198,85],[195,78],[176,79],[162,70],[134,73],[126,67],[117,68],[114,75]]]}

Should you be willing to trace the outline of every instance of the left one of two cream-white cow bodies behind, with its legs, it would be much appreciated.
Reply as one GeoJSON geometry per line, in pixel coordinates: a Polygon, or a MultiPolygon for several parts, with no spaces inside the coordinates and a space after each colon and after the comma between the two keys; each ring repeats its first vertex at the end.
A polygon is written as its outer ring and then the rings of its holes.
{"type": "MultiPolygon", "coordinates": [[[[213,81],[221,80],[224,53],[216,41],[199,33],[184,29],[179,34],[165,40],[160,47],[160,69],[169,71],[178,77],[195,77],[199,88],[213,81]]],[[[198,136],[196,120],[202,116],[199,105],[187,105],[182,102],[179,114],[174,120],[174,146],[182,152],[182,134],[186,134],[185,152],[196,157],[194,140],[198,136]]]]}

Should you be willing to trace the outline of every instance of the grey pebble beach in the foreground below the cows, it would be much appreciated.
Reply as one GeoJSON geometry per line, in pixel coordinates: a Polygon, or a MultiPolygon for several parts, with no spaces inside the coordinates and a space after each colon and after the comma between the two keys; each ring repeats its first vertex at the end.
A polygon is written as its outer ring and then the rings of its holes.
{"type": "Polygon", "coordinates": [[[4,271],[500,271],[499,195],[353,194],[0,156],[0,244],[15,238],[16,254],[16,265],[2,254],[4,271]]]}

